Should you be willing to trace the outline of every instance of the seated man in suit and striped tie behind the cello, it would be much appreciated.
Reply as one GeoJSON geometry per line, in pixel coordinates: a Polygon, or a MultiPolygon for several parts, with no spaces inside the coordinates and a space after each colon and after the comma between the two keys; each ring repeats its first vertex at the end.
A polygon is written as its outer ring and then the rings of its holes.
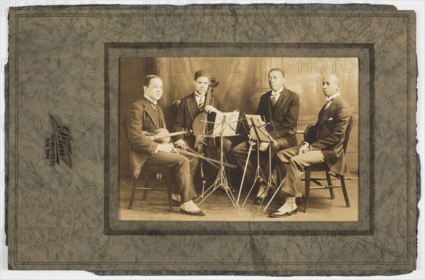
{"type": "MultiPolygon", "coordinates": [[[[183,129],[193,129],[193,119],[195,119],[195,117],[204,110],[209,115],[212,113],[222,112],[222,110],[224,110],[219,98],[217,98],[214,94],[210,95],[210,104],[205,104],[205,93],[208,90],[209,84],[210,79],[208,72],[202,70],[195,72],[193,80],[195,91],[181,99],[174,122],[175,132],[183,131],[183,129]]],[[[208,116],[208,121],[213,122],[214,117],[211,118],[211,116],[208,116]]],[[[195,143],[194,136],[179,135],[175,136],[174,139],[176,139],[177,147],[184,148],[185,146],[188,146],[190,148],[195,148],[198,146],[197,143],[195,143]]],[[[232,142],[229,141],[229,139],[223,139],[223,152],[225,158],[229,158],[228,156],[230,151],[232,151],[232,142]]],[[[232,192],[235,192],[234,189],[231,190],[232,192]]]]}

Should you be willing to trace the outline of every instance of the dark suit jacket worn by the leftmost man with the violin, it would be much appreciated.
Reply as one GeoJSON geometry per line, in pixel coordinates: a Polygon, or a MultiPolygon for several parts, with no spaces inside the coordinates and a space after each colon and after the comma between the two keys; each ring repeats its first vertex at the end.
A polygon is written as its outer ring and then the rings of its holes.
{"type": "Polygon", "coordinates": [[[159,117],[155,117],[157,114],[154,108],[145,97],[142,97],[128,110],[127,132],[130,141],[130,165],[135,177],[138,177],[147,156],[153,155],[159,146],[158,143],[147,138],[146,132],[152,133],[157,129],[166,128],[164,112],[159,106],[158,109],[159,117]]]}

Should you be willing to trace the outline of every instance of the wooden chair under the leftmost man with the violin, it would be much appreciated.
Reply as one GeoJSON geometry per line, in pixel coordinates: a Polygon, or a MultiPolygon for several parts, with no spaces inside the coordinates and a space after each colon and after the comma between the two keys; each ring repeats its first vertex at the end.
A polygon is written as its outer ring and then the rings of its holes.
{"type": "MultiPolygon", "coordinates": [[[[125,135],[124,139],[127,144],[128,154],[130,154],[130,139],[128,139],[128,131],[127,131],[127,120],[120,120],[120,128],[125,135]]],[[[174,174],[176,165],[143,165],[140,170],[140,175],[138,178],[135,178],[133,174],[133,170],[130,165],[130,173],[131,173],[131,182],[132,182],[132,191],[130,195],[130,202],[128,204],[128,209],[132,209],[133,200],[135,199],[135,194],[137,190],[143,190],[142,200],[146,200],[147,191],[148,190],[167,190],[168,191],[168,200],[170,211],[173,212],[173,202],[171,199],[171,194],[173,193],[173,185],[171,177],[174,174]],[[161,182],[163,182],[163,175],[167,174],[166,177],[166,187],[158,187],[161,182]],[[152,176],[154,175],[154,176],[152,176]],[[149,179],[154,179],[155,184],[152,187],[148,187],[147,183],[149,179]]],[[[152,182],[152,180],[151,180],[152,182]]]]}

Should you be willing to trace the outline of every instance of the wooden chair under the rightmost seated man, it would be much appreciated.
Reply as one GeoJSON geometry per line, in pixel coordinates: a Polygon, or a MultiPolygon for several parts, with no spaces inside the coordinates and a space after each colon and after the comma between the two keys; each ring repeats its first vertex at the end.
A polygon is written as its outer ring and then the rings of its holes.
{"type": "MultiPolygon", "coordinates": [[[[345,135],[344,144],[343,144],[344,153],[346,152],[348,139],[350,138],[352,127],[353,127],[353,115],[351,115],[348,121],[348,126],[345,133],[346,135],[345,135]]],[[[307,166],[305,168],[305,178],[302,178],[301,180],[305,181],[304,212],[307,212],[307,200],[310,197],[310,190],[312,189],[329,189],[329,193],[331,194],[331,199],[334,199],[335,198],[334,188],[341,187],[342,192],[344,193],[346,206],[347,207],[350,206],[347,189],[345,185],[345,180],[344,180],[344,175],[330,173],[326,163],[307,166]],[[312,172],[324,172],[326,173],[326,179],[323,177],[312,177],[312,172]],[[332,185],[331,177],[334,177],[340,180],[341,185],[332,185]],[[327,181],[327,185],[323,185],[321,181],[327,181]],[[317,184],[317,187],[310,187],[310,182],[314,182],[315,184],[317,184]]]]}

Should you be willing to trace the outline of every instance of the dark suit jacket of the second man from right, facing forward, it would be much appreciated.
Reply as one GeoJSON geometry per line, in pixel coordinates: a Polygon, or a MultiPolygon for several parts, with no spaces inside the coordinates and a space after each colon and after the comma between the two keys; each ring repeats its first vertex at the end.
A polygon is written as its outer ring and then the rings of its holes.
{"type": "Polygon", "coordinates": [[[289,132],[297,127],[298,114],[300,112],[300,98],[297,93],[283,88],[276,103],[276,109],[272,114],[270,105],[271,91],[261,96],[256,115],[266,118],[266,122],[271,122],[268,133],[273,139],[290,136],[289,132]]]}

